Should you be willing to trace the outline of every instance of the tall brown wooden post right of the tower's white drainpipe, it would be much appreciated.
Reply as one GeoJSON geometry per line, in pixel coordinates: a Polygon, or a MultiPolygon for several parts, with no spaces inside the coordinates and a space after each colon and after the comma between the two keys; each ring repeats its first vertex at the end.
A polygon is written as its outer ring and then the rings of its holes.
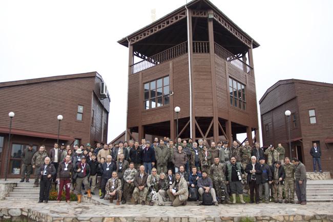
{"type": "MultiPolygon", "coordinates": [[[[209,10],[207,14],[213,13],[213,10],[209,10]]],[[[216,92],[216,75],[215,75],[215,52],[214,52],[214,30],[213,19],[208,19],[208,36],[209,47],[211,57],[211,78],[212,78],[212,96],[213,96],[213,137],[217,143],[219,140],[219,126],[218,126],[218,109],[217,109],[217,92],[216,92]]]]}

